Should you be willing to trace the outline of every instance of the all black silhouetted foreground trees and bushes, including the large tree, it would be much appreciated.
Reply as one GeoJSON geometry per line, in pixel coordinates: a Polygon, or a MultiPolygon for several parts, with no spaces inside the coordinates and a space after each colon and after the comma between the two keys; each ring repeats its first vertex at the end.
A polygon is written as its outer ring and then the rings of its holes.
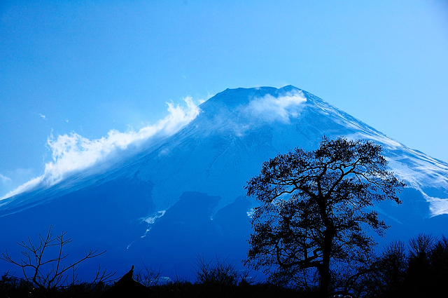
{"type": "Polygon", "coordinates": [[[297,147],[263,163],[245,186],[261,204],[253,210],[244,264],[266,281],[225,259],[198,257],[193,283],[162,278],[145,265],[137,273],[132,266],[116,283],[101,268],[90,283],[81,282],[79,264],[104,252],[90,250],[64,265],[71,240],[64,232],[53,238],[50,229],[38,243],[18,243],[25,258],[1,254],[23,277],[6,273],[0,291],[3,297],[447,297],[448,238],[421,234],[374,250],[372,233],[383,236],[389,226],[372,206],[400,204],[405,187],[386,170],[381,150],[369,141],[323,137],[314,151],[297,147]]]}

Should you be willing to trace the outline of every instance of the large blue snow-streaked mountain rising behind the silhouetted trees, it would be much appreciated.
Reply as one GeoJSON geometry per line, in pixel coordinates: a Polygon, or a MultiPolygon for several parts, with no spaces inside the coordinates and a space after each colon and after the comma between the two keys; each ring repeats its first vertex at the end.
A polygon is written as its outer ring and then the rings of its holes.
{"type": "MultiPolygon", "coordinates": [[[[50,187],[0,201],[0,250],[16,241],[68,231],[71,257],[90,248],[124,273],[130,265],[161,267],[164,275],[192,275],[197,255],[228,257],[239,266],[251,233],[245,182],[263,161],[322,137],[373,140],[390,168],[407,181],[402,205],[375,208],[391,225],[386,238],[446,233],[448,164],[409,149],[378,130],[293,86],[227,89],[200,105],[178,133],[113,163],[95,165],[50,187]]],[[[83,266],[87,274],[97,262],[83,266]]],[[[0,271],[8,264],[0,263],[0,271]]]]}

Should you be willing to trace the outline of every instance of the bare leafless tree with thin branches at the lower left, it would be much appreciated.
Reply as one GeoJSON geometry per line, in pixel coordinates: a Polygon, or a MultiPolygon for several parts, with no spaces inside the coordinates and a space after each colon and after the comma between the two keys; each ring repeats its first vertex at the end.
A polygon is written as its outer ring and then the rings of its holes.
{"type": "MultiPolygon", "coordinates": [[[[13,259],[8,250],[1,253],[0,259],[19,266],[22,269],[23,279],[45,292],[80,285],[83,282],[78,280],[76,273],[80,263],[98,257],[106,251],[89,250],[85,252],[84,257],[76,262],[65,264],[64,259],[69,254],[64,252],[64,247],[72,241],[71,238],[65,236],[66,232],[62,231],[59,236],[53,237],[50,226],[47,236],[39,234],[37,244],[33,243],[30,238],[26,242],[18,242],[18,245],[22,248],[22,258],[20,260],[13,259]]],[[[114,274],[107,272],[107,269],[102,271],[98,265],[96,276],[90,284],[106,283],[114,274]]]]}

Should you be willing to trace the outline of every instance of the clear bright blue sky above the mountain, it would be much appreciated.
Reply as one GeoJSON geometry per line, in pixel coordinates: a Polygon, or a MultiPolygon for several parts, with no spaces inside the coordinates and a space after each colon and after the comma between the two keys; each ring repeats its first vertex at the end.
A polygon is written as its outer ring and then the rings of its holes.
{"type": "Polygon", "coordinates": [[[288,84],[448,161],[448,2],[1,1],[0,196],[59,135],[139,137],[184,98],[288,84]]]}

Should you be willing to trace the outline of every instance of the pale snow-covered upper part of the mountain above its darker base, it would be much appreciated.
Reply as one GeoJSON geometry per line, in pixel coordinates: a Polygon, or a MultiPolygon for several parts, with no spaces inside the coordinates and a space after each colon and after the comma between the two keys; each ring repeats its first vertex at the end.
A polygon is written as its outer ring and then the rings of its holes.
{"type": "MultiPolygon", "coordinates": [[[[155,184],[153,202],[160,210],[169,208],[184,189],[220,195],[221,205],[227,205],[244,194],[241,187],[258,173],[262,161],[297,145],[314,149],[323,135],[373,140],[384,147],[391,170],[410,186],[422,192],[448,189],[446,163],[292,86],[225,90],[200,108],[192,123],[128,169],[155,184]]],[[[433,215],[442,213],[435,200],[428,201],[433,215]]]]}

